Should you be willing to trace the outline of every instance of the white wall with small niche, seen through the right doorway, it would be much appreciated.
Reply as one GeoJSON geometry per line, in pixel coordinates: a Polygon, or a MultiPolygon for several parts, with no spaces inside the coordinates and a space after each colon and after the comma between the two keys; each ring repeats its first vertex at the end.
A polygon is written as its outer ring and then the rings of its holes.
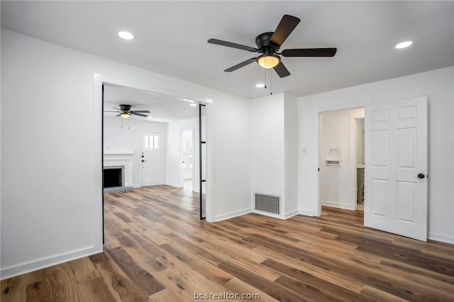
{"type": "Polygon", "coordinates": [[[319,167],[320,200],[323,206],[355,210],[356,117],[364,117],[364,108],[327,111],[320,115],[319,167]],[[354,145],[355,148],[350,148],[354,145]],[[326,163],[326,150],[340,148],[342,161],[326,163]]]}

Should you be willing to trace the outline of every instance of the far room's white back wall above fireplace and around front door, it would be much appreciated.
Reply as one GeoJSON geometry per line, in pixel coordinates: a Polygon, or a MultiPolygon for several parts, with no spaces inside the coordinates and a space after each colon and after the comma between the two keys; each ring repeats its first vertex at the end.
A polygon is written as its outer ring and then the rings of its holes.
{"type": "MultiPolygon", "coordinates": [[[[133,118],[106,118],[104,117],[104,153],[133,153],[131,184],[127,186],[140,186],[140,150],[142,142],[140,133],[150,131],[162,133],[165,138],[165,123],[153,121],[139,121],[133,118]],[[121,128],[123,122],[123,128],[121,128]]],[[[165,148],[162,152],[166,154],[165,148]]],[[[164,167],[164,162],[161,167],[164,167]]]]}

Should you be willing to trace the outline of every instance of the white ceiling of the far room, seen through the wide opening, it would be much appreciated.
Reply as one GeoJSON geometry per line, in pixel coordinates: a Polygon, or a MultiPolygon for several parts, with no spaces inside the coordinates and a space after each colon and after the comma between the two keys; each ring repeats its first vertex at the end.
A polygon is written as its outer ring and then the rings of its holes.
{"type": "MultiPolygon", "coordinates": [[[[150,111],[150,113],[142,113],[150,118],[131,116],[131,118],[141,121],[168,123],[199,116],[199,107],[190,106],[197,104],[192,100],[184,101],[184,99],[175,96],[166,96],[114,84],[104,84],[104,111],[115,111],[114,108],[120,108],[120,104],[131,105],[132,111],[150,111]]],[[[104,116],[109,118],[115,117],[117,114],[116,112],[104,112],[104,116]]],[[[118,116],[118,118],[121,117],[118,116]]]]}

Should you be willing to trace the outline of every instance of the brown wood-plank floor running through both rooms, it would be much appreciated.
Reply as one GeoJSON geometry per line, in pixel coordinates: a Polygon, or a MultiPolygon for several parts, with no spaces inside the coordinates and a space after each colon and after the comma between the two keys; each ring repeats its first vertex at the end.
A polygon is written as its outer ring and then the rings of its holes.
{"type": "Polygon", "coordinates": [[[170,186],[105,194],[104,252],[1,281],[1,301],[453,301],[454,245],[336,208],[207,223],[198,201],[170,186]]]}

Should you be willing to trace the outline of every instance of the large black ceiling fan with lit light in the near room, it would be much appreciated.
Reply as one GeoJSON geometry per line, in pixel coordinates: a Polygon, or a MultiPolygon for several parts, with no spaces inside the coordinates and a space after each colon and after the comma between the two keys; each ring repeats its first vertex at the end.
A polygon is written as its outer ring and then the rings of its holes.
{"type": "Polygon", "coordinates": [[[275,69],[275,72],[277,72],[279,77],[287,77],[290,75],[290,72],[282,63],[279,55],[282,55],[283,57],[333,57],[336,55],[337,51],[337,48],[295,48],[277,52],[294,28],[297,27],[299,21],[300,20],[297,17],[284,15],[274,32],[261,33],[255,38],[257,48],[218,39],[209,39],[208,43],[238,48],[240,50],[248,50],[250,52],[259,52],[262,54],[258,57],[252,57],[244,62],[240,62],[239,64],[224,70],[224,72],[233,72],[252,62],[258,62],[261,67],[275,69]]]}

